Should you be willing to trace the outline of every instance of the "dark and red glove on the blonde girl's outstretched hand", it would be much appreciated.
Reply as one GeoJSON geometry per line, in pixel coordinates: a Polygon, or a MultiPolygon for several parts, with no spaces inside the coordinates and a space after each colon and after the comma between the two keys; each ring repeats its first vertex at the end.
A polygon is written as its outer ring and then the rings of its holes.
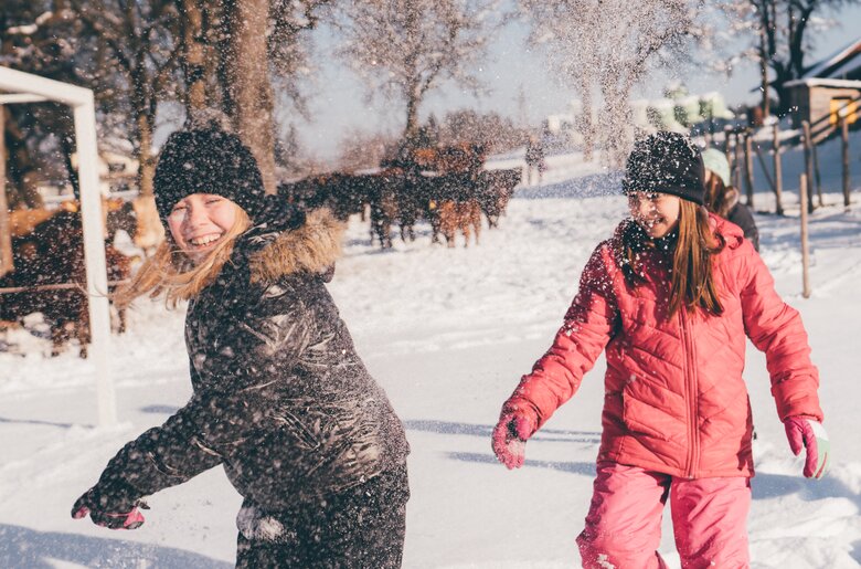
{"type": "Polygon", "coordinates": [[[132,497],[135,491],[126,484],[102,483],[89,488],[72,506],[72,517],[81,519],[89,514],[97,526],[109,529],[137,529],[144,525],[144,515],[138,508],[149,509],[147,503],[132,497]]]}

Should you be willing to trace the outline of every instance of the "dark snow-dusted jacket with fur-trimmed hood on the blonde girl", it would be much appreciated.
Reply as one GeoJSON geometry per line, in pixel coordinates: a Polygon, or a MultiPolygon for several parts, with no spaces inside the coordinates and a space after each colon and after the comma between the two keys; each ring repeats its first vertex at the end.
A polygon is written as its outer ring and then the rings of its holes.
{"type": "Polygon", "coordinates": [[[403,425],[355,352],[325,286],[340,225],[253,228],[189,305],[194,394],[128,443],[102,480],[141,496],[223,464],[247,503],[280,510],[405,462],[403,425]]]}

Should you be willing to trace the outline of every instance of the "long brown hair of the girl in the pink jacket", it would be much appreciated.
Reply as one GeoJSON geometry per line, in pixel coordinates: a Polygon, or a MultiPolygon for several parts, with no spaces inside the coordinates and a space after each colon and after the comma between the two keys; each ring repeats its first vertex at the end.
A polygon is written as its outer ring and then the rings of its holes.
{"type": "MultiPolygon", "coordinates": [[[[668,318],[674,316],[680,308],[688,312],[702,308],[709,314],[720,316],[723,314],[723,305],[720,286],[714,276],[713,257],[723,250],[724,243],[712,232],[709,212],[692,201],[681,200],[676,233],[668,318]]],[[[640,253],[653,246],[655,242],[634,220],[623,229],[618,253],[623,274],[629,284],[645,282],[640,253]]]]}

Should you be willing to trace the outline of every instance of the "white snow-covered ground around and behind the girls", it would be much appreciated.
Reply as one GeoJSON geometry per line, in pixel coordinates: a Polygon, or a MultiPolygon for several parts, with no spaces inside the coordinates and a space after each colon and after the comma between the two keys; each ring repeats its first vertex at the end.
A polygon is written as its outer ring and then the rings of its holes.
{"type": "MultiPolygon", "coordinates": [[[[330,289],[360,354],[385,387],[412,444],[405,567],[572,567],[588,507],[603,401],[603,359],[575,398],[527,447],[520,471],[499,465],[490,429],[499,407],[549,346],[580,272],[625,214],[617,178],[576,157],[551,157],[545,185],[521,189],[481,244],[369,244],[352,220],[330,289]]],[[[507,165],[498,165],[500,167],[507,165]]],[[[858,178],[857,178],[858,179],[858,178]]],[[[791,188],[791,187],[790,187],[791,188]]],[[[838,190],[837,187],[832,191],[838,190]]],[[[822,379],[833,467],[800,476],[768,390],[764,358],[748,350],[758,440],[750,517],[757,568],[861,565],[861,203],[810,221],[812,296],[801,297],[797,196],[789,217],[759,214],[762,255],[778,291],[805,319],[822,379]]],[[[842,203],[827,193],[827,203],[842,203]]],[[[757,194],[757,209],[768,197],[757,194]]],[[[96,428],[92,367],[17,330],[0,352],[0,567],[232,567],[240,497],[215,468],[149,499],[136,531],[70,518],[72,502],[127,440],[162,422],[190,393],[182,310],[139,303],[114,338],[121,423],[96,428]]],[[[667,518],[669,517],[669,513],[667,518]]],[[[661,552],[678,567],[665,520],[661,552]]]]}

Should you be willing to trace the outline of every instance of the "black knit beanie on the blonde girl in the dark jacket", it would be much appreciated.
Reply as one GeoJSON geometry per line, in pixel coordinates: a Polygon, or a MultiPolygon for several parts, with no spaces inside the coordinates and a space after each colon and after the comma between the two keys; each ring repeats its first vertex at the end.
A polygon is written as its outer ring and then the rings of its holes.
{"type": "Polygon", "coordinates": [[[223,196],[254,220],[265,207],[263,178],[240,137],[214,126],[178,130],[161,149],[153,180],[159,217],[192,193],[223,196]]]}

